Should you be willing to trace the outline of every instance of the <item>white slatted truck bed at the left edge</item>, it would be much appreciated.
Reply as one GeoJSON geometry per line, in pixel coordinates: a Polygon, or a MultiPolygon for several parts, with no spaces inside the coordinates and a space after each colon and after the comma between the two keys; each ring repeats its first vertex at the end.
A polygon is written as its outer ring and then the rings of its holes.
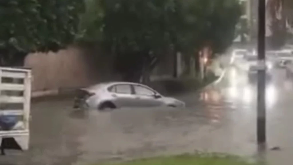
{"type": "Polygon", "coordinates": [[[17,120],[13,127],[3,128],[4,122],[0,118],[1,149],[7,147],[4,140],[12,138],[21,150],[28,150],[30,97],[31,70],[0,67],[0,117],[13,116],[17,120]]]}

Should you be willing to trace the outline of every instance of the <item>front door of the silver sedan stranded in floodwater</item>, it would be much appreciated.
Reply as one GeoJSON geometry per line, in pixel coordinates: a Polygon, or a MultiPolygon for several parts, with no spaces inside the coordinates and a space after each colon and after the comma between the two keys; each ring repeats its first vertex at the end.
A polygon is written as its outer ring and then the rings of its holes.
{"type": "Polygon", "coordinates": [[[141,85],[133,85],[133,87],[138,107],[157,107],[162,105],[161,99],[154,97],[155,91],[141,85]]]}

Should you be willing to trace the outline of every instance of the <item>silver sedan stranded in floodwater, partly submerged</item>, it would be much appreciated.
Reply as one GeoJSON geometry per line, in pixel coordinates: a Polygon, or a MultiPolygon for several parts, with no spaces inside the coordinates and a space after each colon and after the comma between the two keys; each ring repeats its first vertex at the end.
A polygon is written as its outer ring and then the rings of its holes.
{"type": "Polygon", "coordinates": [[[97,110],[159,106],[185,107],[185,103],[164,97],[146,85],[128,82],[100,83],[79,89],[74,99],[74,108],[97,110]]]}

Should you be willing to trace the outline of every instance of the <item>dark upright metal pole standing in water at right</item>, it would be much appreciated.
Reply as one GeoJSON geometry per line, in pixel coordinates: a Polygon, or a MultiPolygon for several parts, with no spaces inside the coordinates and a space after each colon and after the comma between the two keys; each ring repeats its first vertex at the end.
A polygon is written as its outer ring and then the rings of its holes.
{"type": "MultiPolygon", "coordinates": [[[[258,4],[258,60],[265,64],[265,0],[258,4]]],[[[266,143],[265,68],[258,70],[257,141],[266,143]]]]}

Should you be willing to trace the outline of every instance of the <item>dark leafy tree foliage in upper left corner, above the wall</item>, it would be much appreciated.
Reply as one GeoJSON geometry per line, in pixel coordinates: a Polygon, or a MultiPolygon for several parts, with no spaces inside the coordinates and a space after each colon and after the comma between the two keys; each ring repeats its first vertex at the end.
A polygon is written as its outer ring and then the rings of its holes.
{"type": "Polygon", "coordinates": [[[35,51],[57,51],[73,43],[84,0],[0,2],[0,65],[22,65],[35,51]]]}

